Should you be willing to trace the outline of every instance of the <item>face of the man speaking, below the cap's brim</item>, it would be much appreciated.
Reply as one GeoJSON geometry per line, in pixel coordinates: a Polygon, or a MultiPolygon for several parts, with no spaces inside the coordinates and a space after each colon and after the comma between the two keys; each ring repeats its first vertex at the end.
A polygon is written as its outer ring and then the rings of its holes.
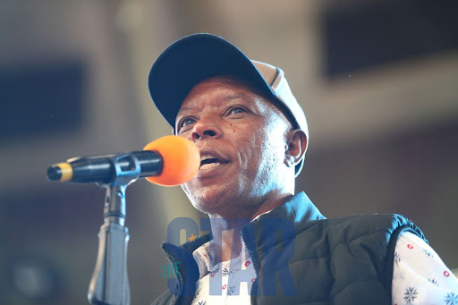
{"type": "MultiPolygon", "coordinates": [[[[199,148],[199,172],[182,185],[193,206],[214,216],[249,216],[284,188],[290,123],[263,97],[229,77],[203,80],[184,99],[177,135],[199,148]]],[[[291,170],[291,168],[289,168],[291,170]]]]}

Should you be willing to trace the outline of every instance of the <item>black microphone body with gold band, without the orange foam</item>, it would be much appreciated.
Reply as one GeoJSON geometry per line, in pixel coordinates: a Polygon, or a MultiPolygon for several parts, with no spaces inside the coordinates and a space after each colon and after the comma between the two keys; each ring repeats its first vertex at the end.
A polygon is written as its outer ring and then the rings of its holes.
{"type": "Polygon", "coordinates": [[[49,181],[78,183],[109,183],[123,172],[139,170],[137,178],[155,176],[162,172],[163,159],[156,151],[141,150],[124,154],[75,157],[47,169],[49,181]]]}

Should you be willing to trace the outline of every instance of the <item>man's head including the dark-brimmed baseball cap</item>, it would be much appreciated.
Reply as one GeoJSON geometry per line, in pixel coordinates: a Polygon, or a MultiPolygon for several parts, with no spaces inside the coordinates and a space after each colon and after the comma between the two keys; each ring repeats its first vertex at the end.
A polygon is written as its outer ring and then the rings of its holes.
{"type": "Polygon", "coordinates": [[[211,214],[206,202],[249,202],[291,189],[308,129],[283,71],[250,61],[222,38],[197,34],[157,59],[149,90],[175,134],[193,140],[204,158],[183,186],[196,208],[211,214]]]}

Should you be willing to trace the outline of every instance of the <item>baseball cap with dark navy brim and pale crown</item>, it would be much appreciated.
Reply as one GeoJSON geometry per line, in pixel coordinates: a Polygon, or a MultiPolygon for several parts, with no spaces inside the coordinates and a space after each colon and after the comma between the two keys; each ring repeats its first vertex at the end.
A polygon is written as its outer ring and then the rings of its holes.
{"type": "MultiPolygon", "coordinates": [[[[271,64],[250,60],[239,48],[212,34],[193,34],[167,47],[149,72],[149,94],[167,123],[174,128],[176,114],[191,89],[200,80],[216,75],[233,75],[248,81],[279,106],[293,127],[304,131],[309,139],[305,114],[293,96],[284,72],[271,64]]],[[[302,165],[303,157],[295,167],[296,176],[302,165]]]]}

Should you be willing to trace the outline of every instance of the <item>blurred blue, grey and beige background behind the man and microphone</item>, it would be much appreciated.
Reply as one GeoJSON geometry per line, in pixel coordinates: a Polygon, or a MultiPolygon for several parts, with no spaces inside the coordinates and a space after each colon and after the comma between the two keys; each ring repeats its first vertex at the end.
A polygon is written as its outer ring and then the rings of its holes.
{"type": "MultiPolygon", "coordinates": [[[[105,191],[47,182],[47,166],[169,134],[148,72],[194,32],[284,70],[310,124],[296,190],[328,217],[402,213],[458,267],[457,15],[426,0],[1,1],[0,304],[88,303],[105,191]]],[[[178,216],[202,216],[179,187],[127,190],[132,304],[165,290],[178,216]]]]}

